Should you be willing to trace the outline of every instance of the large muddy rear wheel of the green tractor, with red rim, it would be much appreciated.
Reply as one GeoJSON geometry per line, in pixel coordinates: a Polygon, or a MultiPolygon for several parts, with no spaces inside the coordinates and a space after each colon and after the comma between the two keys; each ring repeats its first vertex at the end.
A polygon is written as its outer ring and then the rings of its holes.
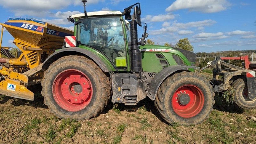
{"type": "Polygon", "coordinates": [[[60,118],[87,120],[110,99],[109,77],[92,61],[70,55],[52,63],[42,82],[44,103],[60,118]]]}

